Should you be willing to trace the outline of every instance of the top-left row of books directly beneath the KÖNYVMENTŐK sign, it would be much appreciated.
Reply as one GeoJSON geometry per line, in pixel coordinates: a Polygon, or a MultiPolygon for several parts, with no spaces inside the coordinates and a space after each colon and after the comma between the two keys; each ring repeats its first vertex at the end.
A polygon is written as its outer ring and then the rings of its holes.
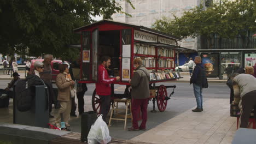
{"type": "Polygon", "coordinates": [[[155,47],[148,45],[134,45],[133,53],[155,56],[155,47]]]}

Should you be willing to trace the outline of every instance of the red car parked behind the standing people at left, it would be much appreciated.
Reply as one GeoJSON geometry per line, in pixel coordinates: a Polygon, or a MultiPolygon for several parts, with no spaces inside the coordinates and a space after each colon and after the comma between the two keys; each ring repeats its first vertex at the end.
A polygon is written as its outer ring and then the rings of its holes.
{"type": "MultiPolygon", "coordinates": [[[[34,70],[34,62],[36,62],[36,61],[43,62],[44,59],[32,59],[30,70],[34,70]]],[[[69,62],[65,61],[64,63],[67,64],[68,67],[70,66],[69,62]]],[[[61,60],[54,59],[53,61],[51,61],[51,75],[52,75],[51,80],[53,80],[53,81],[56,80],[57,75],[60,73],[60,71],[59,71],[60,64],[62,64],[61,60]]]]}

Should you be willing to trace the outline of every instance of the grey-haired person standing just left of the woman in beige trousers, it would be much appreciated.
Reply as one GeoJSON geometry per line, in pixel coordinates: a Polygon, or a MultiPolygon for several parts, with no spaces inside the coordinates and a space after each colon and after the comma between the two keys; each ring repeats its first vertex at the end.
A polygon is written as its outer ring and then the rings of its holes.
{"type": "Polygon", "coordinates": [[[44,55],[44,70],[40,72],[40,77],[44,81],[45,85],[49,89],[49,117],[53,118],[53,116],[50,114],[51,110],[53,109],[53,104],[56,105],[56,96],[53,91],[53,84],[51,83],[51,61],[53,61],[53,55],[46,54],[44,55]]]}

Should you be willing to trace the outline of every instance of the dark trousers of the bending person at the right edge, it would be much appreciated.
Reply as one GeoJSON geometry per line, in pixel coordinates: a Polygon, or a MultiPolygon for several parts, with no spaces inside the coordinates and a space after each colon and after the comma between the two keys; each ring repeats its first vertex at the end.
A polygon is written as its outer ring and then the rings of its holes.
{"type": "Polygon", "coordinates": [[[249,117],[254,109],[254,118],[256,120],[256,91],[251,91],[241,98],[239,102],[240,118],[238,128],[247,128],[249,117]]]}

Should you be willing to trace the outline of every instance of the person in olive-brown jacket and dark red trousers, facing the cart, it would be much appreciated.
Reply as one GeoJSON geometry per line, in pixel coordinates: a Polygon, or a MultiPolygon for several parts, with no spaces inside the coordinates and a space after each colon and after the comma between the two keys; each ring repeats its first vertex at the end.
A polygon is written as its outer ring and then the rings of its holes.
{"type": "Polygon", "coordinates": [[[132,79],[129,80],[132,87],[132,127],[128,130],[146,130],[150,74],[145,66],[142,65],[141,58],[135,58],[133,64],[136,67],[136,71],[133,73],[132,79]],[[138,126],[139,108],[141,108],[142,112],[142,123],[140,126],[138,126]]]}

